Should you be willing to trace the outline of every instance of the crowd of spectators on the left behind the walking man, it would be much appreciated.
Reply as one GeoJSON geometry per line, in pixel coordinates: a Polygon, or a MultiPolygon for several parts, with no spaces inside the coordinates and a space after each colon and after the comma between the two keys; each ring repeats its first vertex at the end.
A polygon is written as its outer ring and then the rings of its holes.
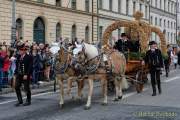
{"type": "Polygon", "coordinates": [[[31,76],[33,87],[38,87],[41,81],[54,80],[53,56],[50,52],[49,44],[16,41],[12,46],[8,46],[6,42],[3,42],[0,43],[0,91],[14,84],[16,56],[18,55],[18,46],[20,44],[25,44],[27,54],[33,58],[31,76]]]}

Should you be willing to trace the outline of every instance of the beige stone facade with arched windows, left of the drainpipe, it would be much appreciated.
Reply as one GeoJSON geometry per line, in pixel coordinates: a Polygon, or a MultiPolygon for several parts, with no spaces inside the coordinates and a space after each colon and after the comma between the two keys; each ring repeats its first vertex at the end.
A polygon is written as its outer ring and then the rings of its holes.
{"type": "MultiPolygon", "coordinates": [[[[16,0],[16,38],[38,43],[60,37],[97,41],[96,13],[97,2],[92,0],[16,0]]],[[[1,42],[10,43],[11,27],[12,0],[0,0],[1,42]]]]}

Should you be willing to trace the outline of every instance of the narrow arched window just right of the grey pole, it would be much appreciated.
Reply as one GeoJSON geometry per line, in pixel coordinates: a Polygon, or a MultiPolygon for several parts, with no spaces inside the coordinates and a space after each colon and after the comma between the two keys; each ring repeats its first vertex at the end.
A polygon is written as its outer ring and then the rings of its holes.
{"type": "Polygon", "coordinates": [[[16,38],[17,40],[23,39],[23,21],[20,18],[16,20],[16,38]]]}

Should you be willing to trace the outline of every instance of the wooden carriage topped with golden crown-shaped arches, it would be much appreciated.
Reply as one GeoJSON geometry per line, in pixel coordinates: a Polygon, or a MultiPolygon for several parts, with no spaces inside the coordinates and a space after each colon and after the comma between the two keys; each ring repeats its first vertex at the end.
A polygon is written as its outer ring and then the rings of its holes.
{"type": "MultiPolygon", "coordinates": [[[[155,26],[151,26],[149,23],[144,22],[141,18],[143,13],[137,11],[134,14],[134,21],[116,21],[111,24],[104,32],[103,35],[103,48],[104,50],[111,48],[109,45],[109,38],[112,31],[125,27],[126,31],[130,30],[129,35],[131,37],[138,37],[141,53],[145,53],[148,49],[148,42],[152,32],[156,33],[160,38],[160,47],[163,54],[166,54],[166,40],[161,30],[155,26]]],[[[127,59],[126,64],[126,76],[130,82],[135,84],[137,92],[141,92],[143,89],[144,80],[147,79],[148,67],[142,66],[141,59],[130,60],[127,59]]]]}

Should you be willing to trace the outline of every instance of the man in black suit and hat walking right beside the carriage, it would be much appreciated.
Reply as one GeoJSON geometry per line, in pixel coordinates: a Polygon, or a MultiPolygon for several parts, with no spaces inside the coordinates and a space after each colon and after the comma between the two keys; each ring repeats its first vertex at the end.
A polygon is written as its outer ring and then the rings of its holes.
{"type": "Polygon", "coordinates": [[[160,72],[163,68],[163,58],[161,51],[157,48],[157,43],[151,41],[149,43],[150,50],[146,52],[143,64],[146,63],[149,66],[150,75],[151,75],[151,84],[153,89],[152,96],[156,96],[156,84],[158,86],[159,94],[161,94],[161,81],[160,81],[160,72]]]}

